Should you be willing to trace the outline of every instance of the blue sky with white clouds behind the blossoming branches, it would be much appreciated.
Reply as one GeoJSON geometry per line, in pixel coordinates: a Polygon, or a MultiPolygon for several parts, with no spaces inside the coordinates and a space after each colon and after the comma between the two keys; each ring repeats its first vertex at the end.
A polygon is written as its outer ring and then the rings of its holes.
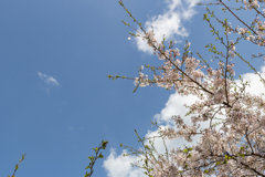
{"type": "MultiPolygon", "coordinates": [[[[200,51],[210,61],[212,54],[204,46],[215,37],[202,21],[205,7],[195,2],[124,0],[146,29],[153,25],[158,41],[166,34],[182,53],[189,40],[194,56],[200,51]]],[[[221,20],[229,14],[218,11],[221,7],[210,8],[221,20]]],[[[248,24],[254,19],[254,13],[236,14],[248,24]]],[[[233,27],[239,24],[227,17],[233,27]]],[[[142,64],[162,64],[141,39],[128,40],[134,31],[121,20],[137,28],[118,0],[0,1],[0,176],[12,175],[25,153],[18,177],[83,176],[87,156],[95,155],[92,148],[102,139],[109,144],[93,176],[144,176],[129,166],[135,157],[121,157],[119,144],[138,148],[134,129],[141,136],[155,135],[150,121],[169,126],[173,114],[184,115],[182,105],[192,103],[192,97],[156,86],[132,93],[132,81],[107,79],[108,74],[135,77],[142,64]]],[[[243,41],[236,50],[262,72],[264,62],[251,60],[251,54],[264,48],[243,41]]],[[[245,74],[252,81],[248,91],[264,92],[253,71],[240,59],[234,62],[236,76],[245,74]]],[[[161,144],[157,148],[162,150],[161,144]]]]}

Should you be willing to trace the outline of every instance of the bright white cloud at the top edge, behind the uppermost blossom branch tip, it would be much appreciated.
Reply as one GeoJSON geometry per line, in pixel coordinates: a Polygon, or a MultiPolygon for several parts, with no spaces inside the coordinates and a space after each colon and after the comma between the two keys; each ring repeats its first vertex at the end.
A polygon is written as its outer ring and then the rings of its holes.
{"type": "MultiPolygon", "coordinates": [[[[187,38],[189,31],[183,27],[184,21],[189,21],[197,11],[194,10],[195,3],[199,0],[165,0],[168,3],[163,14],[155,15],[145,23],[145,30],[151,31],[153,28],[155,37],[160,43],[163,34],[166,34],[166,41],[174,41],[176,38],[180,38],[176,42],[181,42],[181,38],[187,38]]],[[[140,29],[138,29],[140,31],[140,29]]],[[[136,44],[139,51],[153,53],[152,48],[148,46],[142,38],[136,38],[136,44]]]]}

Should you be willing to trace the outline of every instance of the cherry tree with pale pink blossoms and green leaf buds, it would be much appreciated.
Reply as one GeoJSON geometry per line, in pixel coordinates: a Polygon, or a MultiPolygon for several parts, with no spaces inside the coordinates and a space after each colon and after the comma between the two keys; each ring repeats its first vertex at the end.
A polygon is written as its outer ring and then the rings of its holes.
{"type": "MultiPolygon", "coordinates": [[[[190,51],[190,43],[184,45],[181,54],[179,49],[173,49],[174,42],[170,41],[169,50],[166,50],[165,41],[159,43],[153,31],[145,31],[132,14],[125,8],[123,0],[119,4],[127,11],[129,17],[137,23],[139,31],[129,23],[124,24],[132,28],[137,34],[130,32],[130,37],[142,38],[153,49],[153,54],[162,62],[160,66],[145,65],[139,69],[137,77],[113,76],[109,79],[134,80],[136,85],[144,87],[157,85],[166,90],[174,90],[179,95],[194,95],[198,100],[192,105],[184,105],[189,108],[187,115],[191,116],[193,125],[184,124],[183,117],[172,115],[176,128],[159,127],[162,139],[184,138],[192,142],[194,136],[200,135],[197,145],[186,148],[167,149],[166,154],[157,154],[152,140],[147,145],[146,138],[140,138],[144,149],[134,149],[128,146],[130,154],[141,159],[137,167],[145,169],[149,177],[178,177],[178,176],[265,176],[265,100],[262,95],[246,92],[250,83],[239,76],[235,81],[234,59],[246,63],[261,79],[265,85],[263,75],[235,50],[240,41],[245,40],[257,46],[265,46],[265,9],[262,0],[235,0],[239,8],[231,8],[229,2],[216,0],[214,3],[199,3],[199,6],[220,6],[225,12],[236,18],[241,27],[233,28],[227,19],[219,19],[213,11],[206,8],[205,20],[215,40],[219,41],[225,51],[218,51],[212,43],[208,44],[209,51],[213,53],[214,61],[218,61],[218,69],[204,60],[198,52],[195,59],[190,51]],[[244,22],[236,11],[254,11],[256,18],[251,24],[244,22]],[[224,32],[219,32],[213,27],[212,20],[218,21],[224,32]],[[233,41],[230,35],[239,37],[233,41]],[[152,71],[152,77],[144,74],[144,69],[152,71]],[[216,118],[223,116],[225,118],[216,118]],[[203,128],[201,123],[208,122],[209,126],[203,128]]],[[[263,49],[264,50],[264,49],[263,49]]],[[[253,58],[264,58],[265,54],[253,54],[253,58]]],[[[153,123],[153,125],[157,125],[153,123]]]]}

